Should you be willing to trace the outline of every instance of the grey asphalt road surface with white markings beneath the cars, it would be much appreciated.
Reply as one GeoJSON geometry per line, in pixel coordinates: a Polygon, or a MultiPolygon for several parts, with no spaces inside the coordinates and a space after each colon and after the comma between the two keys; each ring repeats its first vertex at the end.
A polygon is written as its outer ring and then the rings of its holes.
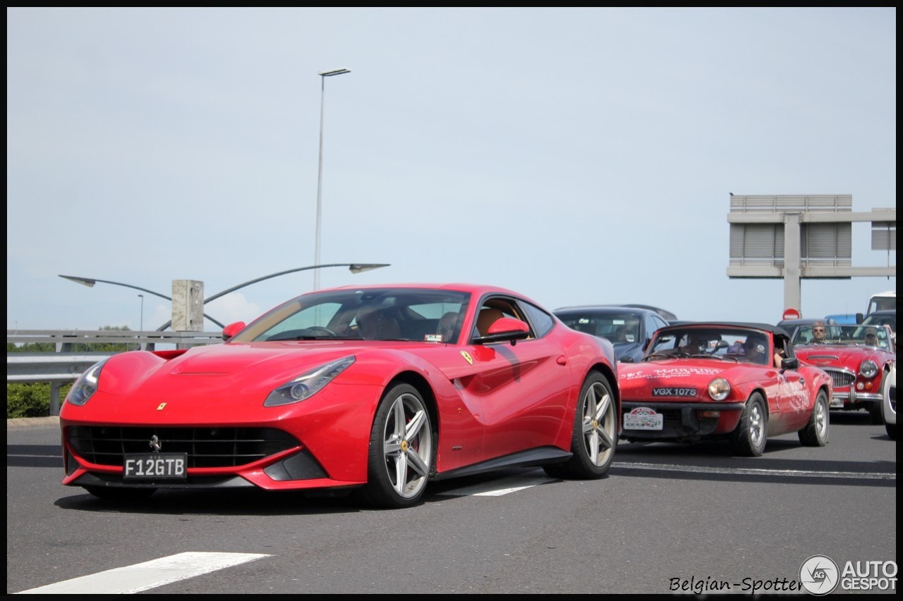
{"type": "Polygon", "coordinates": [[[864,411],[831,420],[824,448],[622,442],[598,481],[509,470],[396,511],[260,491],[104,502],[61,485],[55,420],[7,421],[6,592],[799,594],[814,556],[837,592],[896,592],[897,443],[864,411]]]}

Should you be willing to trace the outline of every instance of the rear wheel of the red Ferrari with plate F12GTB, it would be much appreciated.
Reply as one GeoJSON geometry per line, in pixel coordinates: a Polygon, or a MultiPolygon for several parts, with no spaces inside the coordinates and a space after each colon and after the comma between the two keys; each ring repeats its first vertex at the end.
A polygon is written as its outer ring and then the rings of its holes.
{"type": "Polygon", "coordinates": [[[605,376],[590,374],[581,388],[574,417],[571,452],[564,463],[544,466],[553,477],[605,476],[618,444],[618,407],[605,376]]]}

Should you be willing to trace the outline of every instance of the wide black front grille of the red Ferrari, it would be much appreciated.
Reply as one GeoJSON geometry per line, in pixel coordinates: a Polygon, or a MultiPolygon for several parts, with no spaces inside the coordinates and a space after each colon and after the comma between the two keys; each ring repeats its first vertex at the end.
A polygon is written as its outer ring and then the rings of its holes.
{"type": "Polygon", "coordinates": [[[73,450],[101,466],[122,466],[127,453],[150,453],[156,436],[163,453],[187,453],[188,467],[239,467],[299,445],[275,428],[119,428],[73,426],[73,450]]]}

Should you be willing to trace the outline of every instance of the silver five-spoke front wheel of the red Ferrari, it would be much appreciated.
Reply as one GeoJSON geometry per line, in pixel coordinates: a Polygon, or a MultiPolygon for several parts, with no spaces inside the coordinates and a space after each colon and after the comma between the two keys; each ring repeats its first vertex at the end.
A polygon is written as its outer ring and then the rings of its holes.
{"type": "Polygon", "coordinates": [[[386,509],[418,504],[426,490],[434,451],[430,412],[421,394],[409,384],[388,389],[370,432],[364,498],[386,509]]]}

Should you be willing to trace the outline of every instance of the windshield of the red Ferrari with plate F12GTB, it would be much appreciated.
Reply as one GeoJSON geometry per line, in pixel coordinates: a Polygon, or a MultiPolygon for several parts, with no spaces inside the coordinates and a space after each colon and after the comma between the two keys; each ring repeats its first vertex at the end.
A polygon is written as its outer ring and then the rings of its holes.
{"type": "Polygon", "coordinates": [[[321,291],[284,302],[229,342],[351,338],[454,342],[470,294],[413,288],[321,291]]]}

